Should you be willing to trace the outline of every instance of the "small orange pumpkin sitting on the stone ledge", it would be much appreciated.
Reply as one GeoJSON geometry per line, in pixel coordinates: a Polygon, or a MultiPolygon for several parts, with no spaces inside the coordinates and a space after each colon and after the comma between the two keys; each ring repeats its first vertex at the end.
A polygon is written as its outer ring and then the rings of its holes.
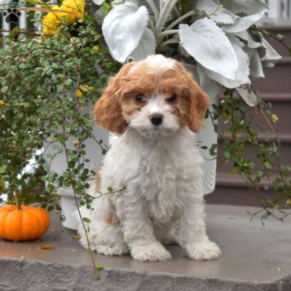
{"type": "Polygon", "coordinates": [[[40,238],[49,228],[49,213],[40,208],[21,205],[0,207],[0,237],[11,241],[28,241],[40,238]]]}

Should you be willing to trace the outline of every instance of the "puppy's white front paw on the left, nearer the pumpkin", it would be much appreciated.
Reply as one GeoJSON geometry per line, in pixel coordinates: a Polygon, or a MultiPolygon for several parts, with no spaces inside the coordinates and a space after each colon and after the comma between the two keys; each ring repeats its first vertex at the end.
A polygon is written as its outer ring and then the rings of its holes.
{"type": "Polygon", "coordinates": [[[165,261],[172,258],[172,255],[160,242],[150,244],[133,244],[131,247],[133,259],[141,261],[165,261]]]}

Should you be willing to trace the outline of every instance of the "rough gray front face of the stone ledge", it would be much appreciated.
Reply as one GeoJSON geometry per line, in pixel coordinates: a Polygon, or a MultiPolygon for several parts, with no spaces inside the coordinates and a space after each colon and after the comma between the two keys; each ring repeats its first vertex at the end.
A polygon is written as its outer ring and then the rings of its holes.
{"type": "Polygon", "coordinates": [[[291,278],[270,283],[199,278],[163,272],[0,259],[0,291],[290,291],[291,278]]]}

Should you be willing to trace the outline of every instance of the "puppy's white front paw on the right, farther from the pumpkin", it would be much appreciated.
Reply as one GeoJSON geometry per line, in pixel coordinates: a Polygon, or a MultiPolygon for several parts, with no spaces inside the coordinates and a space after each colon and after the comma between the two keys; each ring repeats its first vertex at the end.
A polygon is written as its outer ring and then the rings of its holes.
{"type": "Polygon", "coordinates": [[[190,259],[218,259],[221,256],[221,250],[215,242],[186,243],[184,250],[190,259]]]}

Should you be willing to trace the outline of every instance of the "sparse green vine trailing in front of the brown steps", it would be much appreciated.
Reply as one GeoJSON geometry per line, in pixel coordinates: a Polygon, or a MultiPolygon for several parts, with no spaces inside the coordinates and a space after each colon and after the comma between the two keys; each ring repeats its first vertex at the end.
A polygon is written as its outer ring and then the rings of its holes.
{"type": "MultiPolygon", "coordinates": [[[[252,87],[248,89],[257,94],[252,87]]],[[[265,104],[258,95],[258,105],[250,107],[235,93],[235,90],[226,89],[223,100],[214,104],[214,110],[209,112],[212,121],[219,119],[226,124],[223,131],[218,131],[223,150],[223,156],[218,159],[222,163],[231,162],[230,173],[240,174],[257,194],[262,208],[252,214],[262,212],[261,219],[272,215],[283,220],[290,212],[283,211],[279,203],[287,208],[291,206],[291,166],[281,161],[278,117],[271,112],[272,104],[265,104]],[[259,138],[259,130],[263,133],[263,141],[259,138]],[[256,159],[247,158],[247,146],[256,153],[256,159]],[[270,190],[275,193],[272,200],[264,194],[270,190]]],[[[212,151],[216,146],[211,146],[212,151]]],[[[218,155],[221,155],[219,151],[218,155]]]]}

